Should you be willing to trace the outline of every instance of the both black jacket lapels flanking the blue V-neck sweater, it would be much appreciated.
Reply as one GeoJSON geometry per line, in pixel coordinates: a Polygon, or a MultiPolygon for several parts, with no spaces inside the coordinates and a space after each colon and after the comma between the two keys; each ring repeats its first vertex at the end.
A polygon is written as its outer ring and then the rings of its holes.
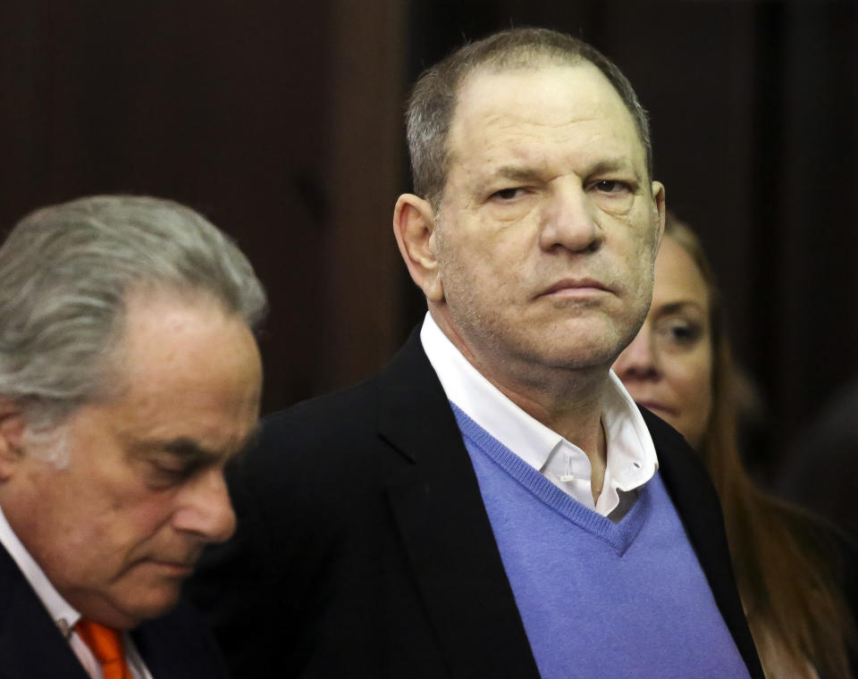
{"type": "MultiPolygon", "coordinates": [[[[752,677],[760,660],[738,597],[708,475],[677,432],[647,411],[660,474],[752,677]]],[[[410,466],[388,495],[425,608],[453,676],[539,674],[461,433],[418,332],[379,379],[379,433],[410,466]]]]}

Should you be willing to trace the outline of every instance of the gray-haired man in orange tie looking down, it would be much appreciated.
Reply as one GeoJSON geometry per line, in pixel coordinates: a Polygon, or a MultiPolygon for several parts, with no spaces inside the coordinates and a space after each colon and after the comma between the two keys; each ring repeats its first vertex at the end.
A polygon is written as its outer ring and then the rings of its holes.
{"type": "Polygon", "coordinates": [[[265,293],[187,207],[90,197],[0,248],[0,675],[222,676],[177,609],[235,520],[265,293]]]}

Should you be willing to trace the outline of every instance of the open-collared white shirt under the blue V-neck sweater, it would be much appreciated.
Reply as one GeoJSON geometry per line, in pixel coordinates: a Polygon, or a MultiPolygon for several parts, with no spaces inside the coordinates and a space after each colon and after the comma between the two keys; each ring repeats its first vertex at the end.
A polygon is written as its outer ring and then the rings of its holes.
{"type": "Polygon", "coordinates": [[[593,502],[590,460],[585,452],[517,407],[485,379],[426,314],[420,340],[447,398],[486,432],[521,457],[551,483],[601,516],[619,520],[636,493],[652,478],[658,459],[644,418],[617,375],[610,371],[610,393],[601,424],[607,466],[598,502],[593,502]],[[629,493],[623,496],[622,493],[629,493]],[[627,499],[620,507],[621,499],[627,499]]]}

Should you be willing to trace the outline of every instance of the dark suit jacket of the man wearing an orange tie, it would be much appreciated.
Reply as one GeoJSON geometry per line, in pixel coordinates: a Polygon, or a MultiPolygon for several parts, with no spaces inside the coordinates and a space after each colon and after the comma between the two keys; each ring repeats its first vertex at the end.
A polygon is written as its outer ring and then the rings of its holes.
{"type": "MultiPolygon", "coordinates": [[[[220,650],[187,606],[131,633],[155,679],[226,679],[220,650]]],[[[0,546],[0,679],[89,679],[69,642],[0,546]]]]}

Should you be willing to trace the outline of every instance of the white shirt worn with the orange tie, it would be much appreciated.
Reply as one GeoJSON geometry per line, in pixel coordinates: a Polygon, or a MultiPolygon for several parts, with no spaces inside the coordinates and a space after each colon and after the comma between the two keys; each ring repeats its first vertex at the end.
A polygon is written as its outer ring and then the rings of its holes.
{"type": "MultiPolygon", "coordinates": [[[[71,650],[80,659],[80,664],[84,666],[88,675],[92,679],[105,679],[101,664],[89,650],[87,644],[74,632],[74,625],[78,624],[80,613],[63,599],[63,595],[56,591],[54,585],[47,579],[45,572],[29,555],[27,549],[12,530],[12,526],[9,525],[3,513],[3,507],[0,507],[0,544],[4,546],[18,568],[21,569],[21,573],[27,578],[29,586],[36,592],[47,609],[48,615],[51,616],[57,628],[69,641],[71,650]]],[[[125,660],[133,679],[153,679],[127,632],[122,634],[122,640],[125,644],[125,660]]]]}

